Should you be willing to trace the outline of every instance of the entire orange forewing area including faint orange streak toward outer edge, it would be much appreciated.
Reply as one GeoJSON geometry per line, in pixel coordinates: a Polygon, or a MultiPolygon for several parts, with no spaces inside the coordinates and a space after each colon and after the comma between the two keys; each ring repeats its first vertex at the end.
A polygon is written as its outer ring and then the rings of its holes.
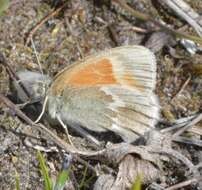
{"type": "Polygon", "coordinates": [[[56,77],[51,89],[52,93],[57,95],[68,86],[88,87],[110,84],[123,84],[144,91],[141,83],[135,80],[131,73],[115,77],[112,63],[107,58],[91,64],[78,64],[64,70],[56,77]]]}

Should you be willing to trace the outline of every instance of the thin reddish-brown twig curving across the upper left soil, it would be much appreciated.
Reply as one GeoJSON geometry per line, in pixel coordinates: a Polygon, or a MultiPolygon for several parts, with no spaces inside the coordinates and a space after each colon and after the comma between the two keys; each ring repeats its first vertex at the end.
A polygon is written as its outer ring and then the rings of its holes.
{"type": "Polygon", "coordinates": [[[46,22],[48,21],[51,17],[57,15],[62,9],[65,8],[67,5],[66,1],[63,5],[61,5],[59,8],[51,11],[48,15],[46,15],[44,18],[42,18],[34,27],[31,28],[31,30],[28,32],[28,35],[25,40],[25,45],[28,45],[32,36],[36,33],[36,31],[46,22]]]}

